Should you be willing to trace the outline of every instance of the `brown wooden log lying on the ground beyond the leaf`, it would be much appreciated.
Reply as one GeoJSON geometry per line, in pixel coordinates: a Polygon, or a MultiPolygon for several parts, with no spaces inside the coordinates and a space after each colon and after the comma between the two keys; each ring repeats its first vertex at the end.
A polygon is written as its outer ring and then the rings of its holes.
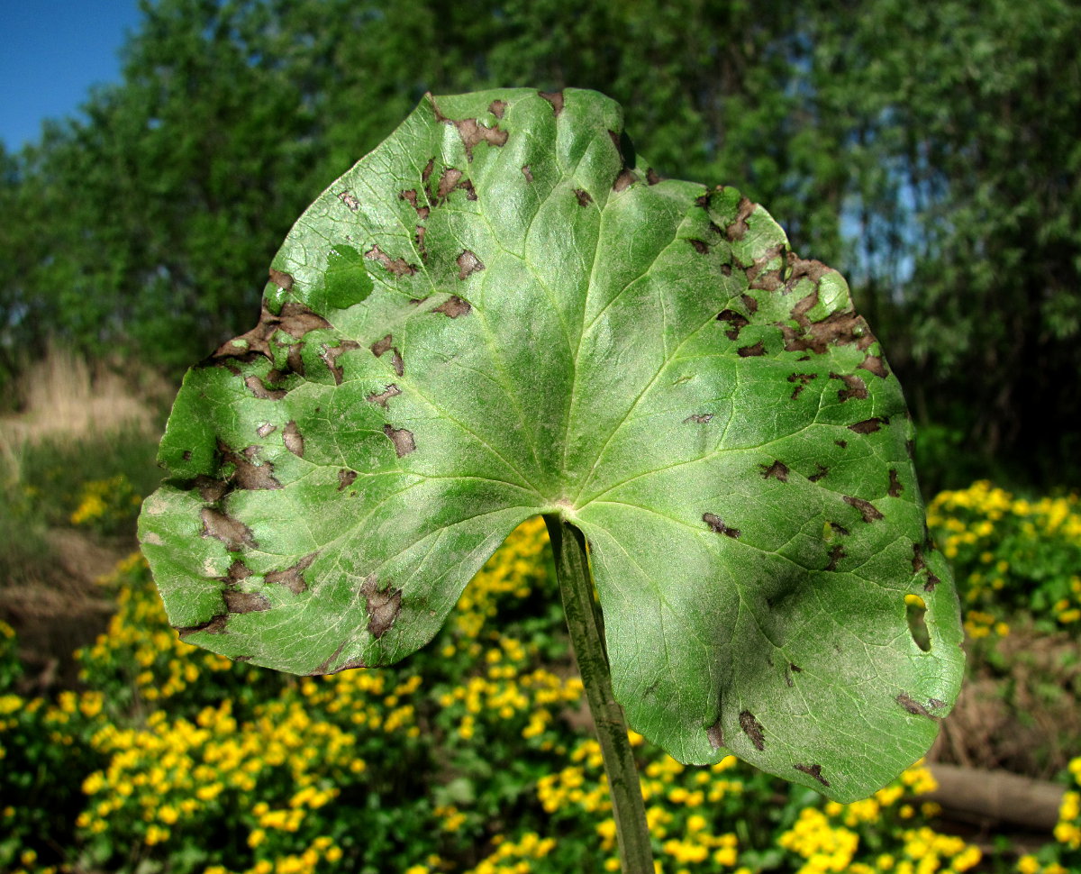
{"type": "Polygon", "coordinates": [[[935,802],[958,819],[999,822],[1050,832],[1058,822],[1066,790],[1009,771],[985,771],[956,765],[927,766],[938,789],[921,800],[935,802]]]}

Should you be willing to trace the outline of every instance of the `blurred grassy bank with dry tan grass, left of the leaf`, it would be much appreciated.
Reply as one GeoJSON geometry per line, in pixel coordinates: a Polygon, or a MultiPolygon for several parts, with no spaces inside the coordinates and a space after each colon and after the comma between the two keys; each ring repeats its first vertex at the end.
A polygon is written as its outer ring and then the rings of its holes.
{"type": "Polygon", "coordinates": [[[19,627],[44,685],[74,679],[70,653],[110,607],[94,580],[134,546],[166,389],[53,349],[26,370],[0,418],[0,620],[19,627]]]}

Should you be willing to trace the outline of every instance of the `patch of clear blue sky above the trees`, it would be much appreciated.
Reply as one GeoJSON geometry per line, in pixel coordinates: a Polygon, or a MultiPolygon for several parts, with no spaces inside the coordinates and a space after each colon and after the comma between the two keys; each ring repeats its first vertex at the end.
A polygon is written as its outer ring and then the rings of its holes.
{"type": "Polygon", "coordinates": [[[75,115],[96,83],[120,80],[137,0],[0,0],[0,140],[9,151],[46,118],[75,115]]]}

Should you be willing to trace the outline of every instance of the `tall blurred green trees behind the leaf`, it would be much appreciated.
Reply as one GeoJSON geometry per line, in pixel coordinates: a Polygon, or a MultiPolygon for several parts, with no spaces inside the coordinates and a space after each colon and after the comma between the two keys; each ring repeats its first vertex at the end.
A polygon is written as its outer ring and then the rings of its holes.
{"type": "MultiPolygon", "coordinates": [[[[0,154],[0,380],[44,337],[176,373],[425,91],[595,88],[662,175],[852,280],[944,449],[1077,485],[1081,6],[1068,0],[160,0],[123,80],[0,154]],[[955,449],[962,451],[956,452],[955,449]]],[[[980,466],[979,471],[972,469],[980,466]]]]}

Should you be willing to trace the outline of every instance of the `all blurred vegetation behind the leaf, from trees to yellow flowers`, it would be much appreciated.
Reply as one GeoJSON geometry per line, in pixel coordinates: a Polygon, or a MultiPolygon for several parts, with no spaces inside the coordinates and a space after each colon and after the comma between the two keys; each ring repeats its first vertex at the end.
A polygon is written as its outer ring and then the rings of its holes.
{"type": "Polygon", "coordinates": [[[325,679],[181,644],[129,556],[172,386],[251,327],[290,223],[425,91],[497,85],[610,94],[662,175],[743,188],[850,278],[962,592],[970,676],[933,756],[1069,790],[1053,833],[1006,840],[940,821],[920,767],[841,807],[640,743],[663,870],[1081,870],[1081,5],[143,16],[119,84],[0,150],[0,871],[612,870],[535,520],[424,652],[325,679]]]}

